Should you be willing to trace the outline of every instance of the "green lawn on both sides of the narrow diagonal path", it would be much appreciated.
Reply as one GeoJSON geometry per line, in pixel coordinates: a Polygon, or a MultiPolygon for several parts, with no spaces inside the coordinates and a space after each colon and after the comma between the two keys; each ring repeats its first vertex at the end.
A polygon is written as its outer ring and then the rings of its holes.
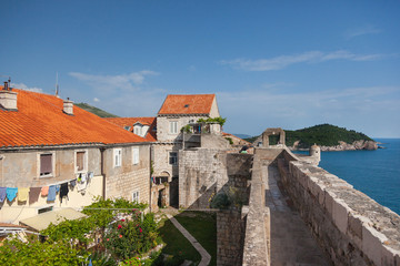
{"type": "MultiPolygon", "coordinates": [[[[216,214],[186,211],[174,217],[211,255],[210,265],[217,265],[216,214]]],[[[162,253],[170,255],[180,254],[186,259],[192,260],[196,264],[200,262],[200,254],[169,219],[161,222],[160,235],[167,245],[162,253]]]]}

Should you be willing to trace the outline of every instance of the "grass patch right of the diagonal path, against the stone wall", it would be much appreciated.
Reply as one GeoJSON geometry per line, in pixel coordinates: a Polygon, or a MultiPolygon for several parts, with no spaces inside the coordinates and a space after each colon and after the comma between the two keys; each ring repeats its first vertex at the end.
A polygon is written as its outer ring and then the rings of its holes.
{"type": "Polygon", "coordinates": [[[174,217],[211,255],[210,265],[217,265],[216,214],[186,211],[174,217]]]}

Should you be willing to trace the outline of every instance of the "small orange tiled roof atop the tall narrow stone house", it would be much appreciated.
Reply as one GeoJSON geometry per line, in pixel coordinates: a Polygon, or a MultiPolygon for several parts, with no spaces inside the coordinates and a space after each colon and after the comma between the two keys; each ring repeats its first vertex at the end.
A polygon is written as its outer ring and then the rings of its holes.
{"type": "Polygon", "coordinates": [[[168,95],[158,114],[209,114],[216,94],[168,95]]]}

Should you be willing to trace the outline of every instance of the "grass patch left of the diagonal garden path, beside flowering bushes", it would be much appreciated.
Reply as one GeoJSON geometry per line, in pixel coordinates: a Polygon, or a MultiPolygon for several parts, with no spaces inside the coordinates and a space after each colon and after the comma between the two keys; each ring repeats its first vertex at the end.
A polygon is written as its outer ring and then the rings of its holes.
{"type": "Polygon", "coordinates": [[[162,248],[163,254],[182,256],[196,264],[200,263],[200,254],[168,218],[161,221],[159,226],[160,237],[166,244],[162,248]]]}

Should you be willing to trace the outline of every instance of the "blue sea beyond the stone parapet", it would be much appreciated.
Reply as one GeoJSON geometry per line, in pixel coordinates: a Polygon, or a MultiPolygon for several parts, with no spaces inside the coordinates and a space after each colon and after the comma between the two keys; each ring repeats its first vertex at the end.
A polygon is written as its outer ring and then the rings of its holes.
{"type": "Polygon", "coordinates": [[[400,139],[374,139],[376,151],[321,152],[320,167],[400,215],[400,139]]]}

